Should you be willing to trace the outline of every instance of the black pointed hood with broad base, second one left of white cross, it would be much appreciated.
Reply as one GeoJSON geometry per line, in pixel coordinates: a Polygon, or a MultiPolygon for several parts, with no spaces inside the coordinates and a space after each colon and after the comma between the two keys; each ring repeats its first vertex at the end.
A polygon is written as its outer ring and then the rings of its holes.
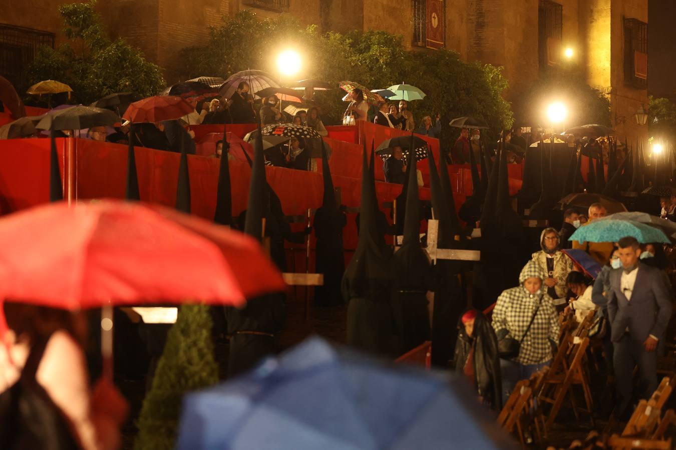
{"type": "Polygon", "coordinates": [[[366,158],[362,157],[362,194],[360,204],[359,240],[352,259],[343,275],[343,298],[377,295],[378,289],[389,283],[389,258],[379,245],[376,223],[378,204],[375,181],[366,158]]]}

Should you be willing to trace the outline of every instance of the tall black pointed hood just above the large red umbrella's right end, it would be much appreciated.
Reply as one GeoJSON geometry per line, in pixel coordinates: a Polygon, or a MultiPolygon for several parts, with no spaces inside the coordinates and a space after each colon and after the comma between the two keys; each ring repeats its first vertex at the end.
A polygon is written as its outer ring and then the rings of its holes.
{"type": "Polygon", "coordinates": [[[265,177],[265,163],[263,161],[263,138],[261,126],[258,123],[258,136],[254,144],[254,162],[251,166],[251,182],[249,183],[249,201],[247,202],[247,216],[244,222],[244,232],[257,240],[262,240],[268,186],[265,177]]]}

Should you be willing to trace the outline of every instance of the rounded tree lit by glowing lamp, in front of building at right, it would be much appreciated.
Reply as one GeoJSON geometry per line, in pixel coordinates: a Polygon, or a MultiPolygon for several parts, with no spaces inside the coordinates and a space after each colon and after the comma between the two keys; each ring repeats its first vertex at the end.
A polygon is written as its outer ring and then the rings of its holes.
{"type": "Polygon", "coordinates": [[[610,100],[600,90],[594,89],[576,70],[551,70],[533,82],[525,95],[515,102],[517,121],[525,125],[539,124],[548,128],[547,105],[560,101],[569,113],[564,125],[570,128],[587,123],[612,127],[610,100]]]}

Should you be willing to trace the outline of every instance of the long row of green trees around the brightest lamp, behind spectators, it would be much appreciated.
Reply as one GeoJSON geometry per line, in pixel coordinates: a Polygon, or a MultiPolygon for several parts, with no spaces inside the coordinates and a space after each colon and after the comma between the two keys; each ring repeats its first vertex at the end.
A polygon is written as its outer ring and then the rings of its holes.
{"type": "MultiPolygon", "coordinates": [[[[416,123],[424,115],[441,113],[445,135],[454,131],[448,122],[460,115],[485,119],[496,131],[512,123],[510,104],[502,99],[507,82],[499,67],[467,63],[448,50],[407,51],[402,36],[384,31],[321,34],[316,26],[302,28],[288,16],[260,20],[251,11],[224,20],[221,27],[212,28],[207,45],[180,51],[175,67],[180,79],[226,78],[245,69],[277,74],[276,55],[291,47],[304,61],[295,79],[318,78],[332,84],[351,80],[369,88],[414,84],[427,94],[423,101],[410,104],[416,123]]],[[[325,123],[339,123],[347,107],[341,101],[344,94],[338,89],[316,92],[325,123]]]]}

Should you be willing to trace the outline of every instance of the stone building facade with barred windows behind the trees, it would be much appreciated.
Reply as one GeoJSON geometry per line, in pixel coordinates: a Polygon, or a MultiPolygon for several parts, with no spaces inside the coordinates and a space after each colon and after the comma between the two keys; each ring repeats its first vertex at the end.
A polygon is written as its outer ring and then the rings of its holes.
{"type": "MultiPolygon", "coordinates": [[[[59,3],[3,2],[0,24],[52,33],[58,44],[59,3]]],[[[288,13],[324,31],[386,30],[402,34],[410,49],[445,47],[463,59],[502,65],[510,82],[508,99],[523,92],[544,67],[576,64],[591,86],[609,96],[619,136],[647,134],[633,116],[648,105],[643,73],[648,0],[115,0],[100,1],[98,9],[113,37],[128,38],[163,67],[175,51],[203,43],[209,26],[241,9],[263,17],[288,13]],[[566,48],[573,51],[571,59],[563,56],[566,48]]],[[[0,71],[6,71],[3,58],[11,44],[2,30],[0,71]]]]}

